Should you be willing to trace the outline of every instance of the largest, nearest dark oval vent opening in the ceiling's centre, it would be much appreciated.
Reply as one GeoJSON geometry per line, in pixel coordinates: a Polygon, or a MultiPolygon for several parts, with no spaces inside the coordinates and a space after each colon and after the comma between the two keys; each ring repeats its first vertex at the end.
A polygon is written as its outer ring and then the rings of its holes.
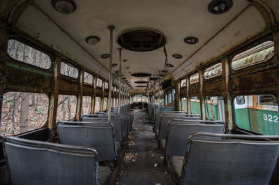
{"type": "Polygon", "coordinates": [[[157,30],[129,30],[119,36],[118,43],[126,50],[134,52],[149,52],[162,47],[165,43],[165,36],[160,34],[157,30]]]}

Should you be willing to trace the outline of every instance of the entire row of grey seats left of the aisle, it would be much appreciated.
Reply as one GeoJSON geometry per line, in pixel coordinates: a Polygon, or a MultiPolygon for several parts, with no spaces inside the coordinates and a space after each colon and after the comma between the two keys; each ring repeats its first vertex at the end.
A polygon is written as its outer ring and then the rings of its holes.
{"type": "Polygon", "coordinates": [[[4,138],[13,184],[107,184],[111,165],[99,162],[113,165],[133,122],[130,105],[121,105],[121,114],[117,112],[112,110],[110,123],[107,112],[84,115],[82,121],[59,122],[59,143],[4,138]]]}

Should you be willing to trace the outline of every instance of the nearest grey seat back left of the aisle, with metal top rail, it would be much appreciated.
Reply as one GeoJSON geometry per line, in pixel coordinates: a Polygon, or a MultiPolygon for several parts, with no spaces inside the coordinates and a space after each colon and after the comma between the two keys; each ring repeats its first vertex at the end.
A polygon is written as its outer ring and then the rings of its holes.
{"type": "Polygon", "coordinates": [[[13,185],[98,184],[95,149],[11,136],[3,141],[13,185]]]}

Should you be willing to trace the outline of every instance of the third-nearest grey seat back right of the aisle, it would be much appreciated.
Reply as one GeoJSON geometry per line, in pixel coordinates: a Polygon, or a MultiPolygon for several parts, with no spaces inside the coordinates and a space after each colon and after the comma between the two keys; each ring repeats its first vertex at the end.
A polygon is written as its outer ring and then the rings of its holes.
{"type": "Polygon", "coordinates": [[[200,117],[193,114],[163,114],[159,126],[158,140],[165,140],[167,138],[167,128],[169,128],[169,121],[171,119],[185,119],[190,121],[199,120],[200,117]]]}

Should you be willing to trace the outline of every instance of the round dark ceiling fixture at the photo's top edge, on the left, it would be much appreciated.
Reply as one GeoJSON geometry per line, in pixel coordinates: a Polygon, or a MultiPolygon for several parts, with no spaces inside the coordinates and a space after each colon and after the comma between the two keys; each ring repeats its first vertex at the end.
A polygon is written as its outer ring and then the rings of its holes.
{"type": "Polygon", "coordinates": [[[63,14],[73,13],[77,8],[73,0],[52,0],[52,6],[63,14]]]}

